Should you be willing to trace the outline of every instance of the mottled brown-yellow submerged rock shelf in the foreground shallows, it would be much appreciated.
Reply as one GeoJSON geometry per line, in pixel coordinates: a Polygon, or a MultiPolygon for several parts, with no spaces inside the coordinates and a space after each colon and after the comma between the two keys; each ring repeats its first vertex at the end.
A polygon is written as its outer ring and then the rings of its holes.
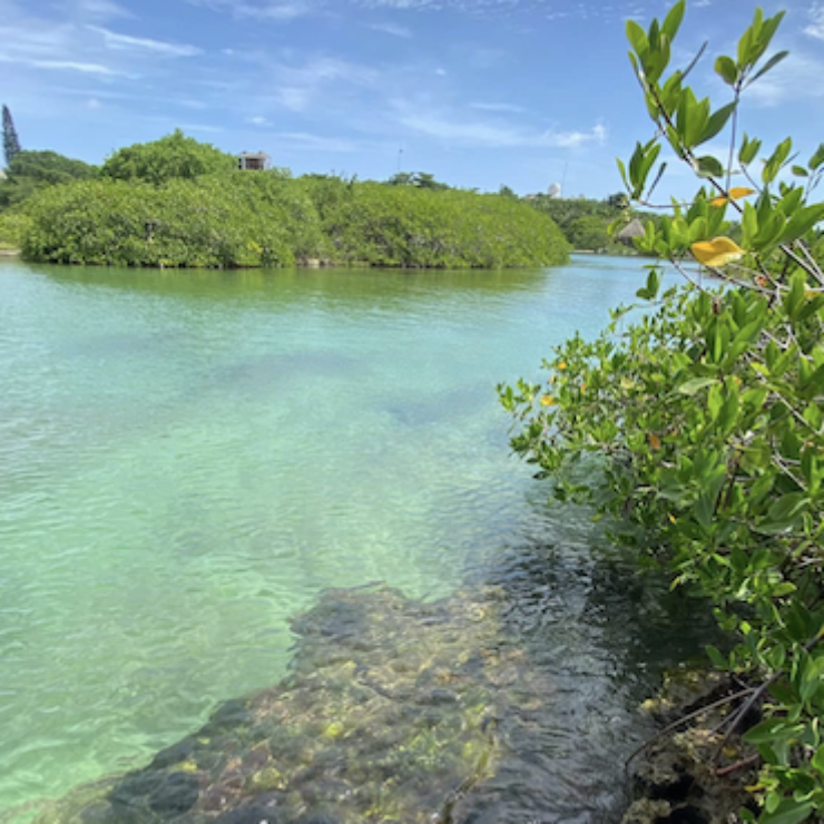
{"type": "Polygon", "coordinates": [[[145,769],[79,789],[38,824],[474,820],[507,736],[550,694],[489,594],[330,590],[292,629],[279,685],[227,702],[145,769]]]}

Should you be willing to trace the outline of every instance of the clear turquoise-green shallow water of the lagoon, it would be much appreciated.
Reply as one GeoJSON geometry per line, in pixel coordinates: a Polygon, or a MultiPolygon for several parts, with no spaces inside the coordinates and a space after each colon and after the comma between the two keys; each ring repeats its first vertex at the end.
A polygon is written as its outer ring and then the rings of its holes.
{"type": "Polygon", "coordinates": [[[595,334],[644,279],[602,258],[458,274],[0,262],[0,811],[141,765],[275,683],[286,619],[320,590],[375,580],[429,599],[501,583],[557,671],[555,745],[577,752],[592,724],[626,746],[624,705],[683,635],[640,611],[646,590],[585,516],[545,509],[493,388],[595,334]]]}

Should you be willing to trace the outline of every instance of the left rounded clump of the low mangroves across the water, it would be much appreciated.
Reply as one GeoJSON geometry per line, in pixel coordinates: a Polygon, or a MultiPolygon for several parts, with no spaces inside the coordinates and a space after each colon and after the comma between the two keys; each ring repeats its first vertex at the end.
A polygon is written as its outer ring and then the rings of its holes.
{"type": "Polygon", "coordinates": [[[27,205],[23,254],[53,263],[277,266],[323,247],[304,192],[236,171],[161,186],[89,180],[47,189],[27,205]]]}

